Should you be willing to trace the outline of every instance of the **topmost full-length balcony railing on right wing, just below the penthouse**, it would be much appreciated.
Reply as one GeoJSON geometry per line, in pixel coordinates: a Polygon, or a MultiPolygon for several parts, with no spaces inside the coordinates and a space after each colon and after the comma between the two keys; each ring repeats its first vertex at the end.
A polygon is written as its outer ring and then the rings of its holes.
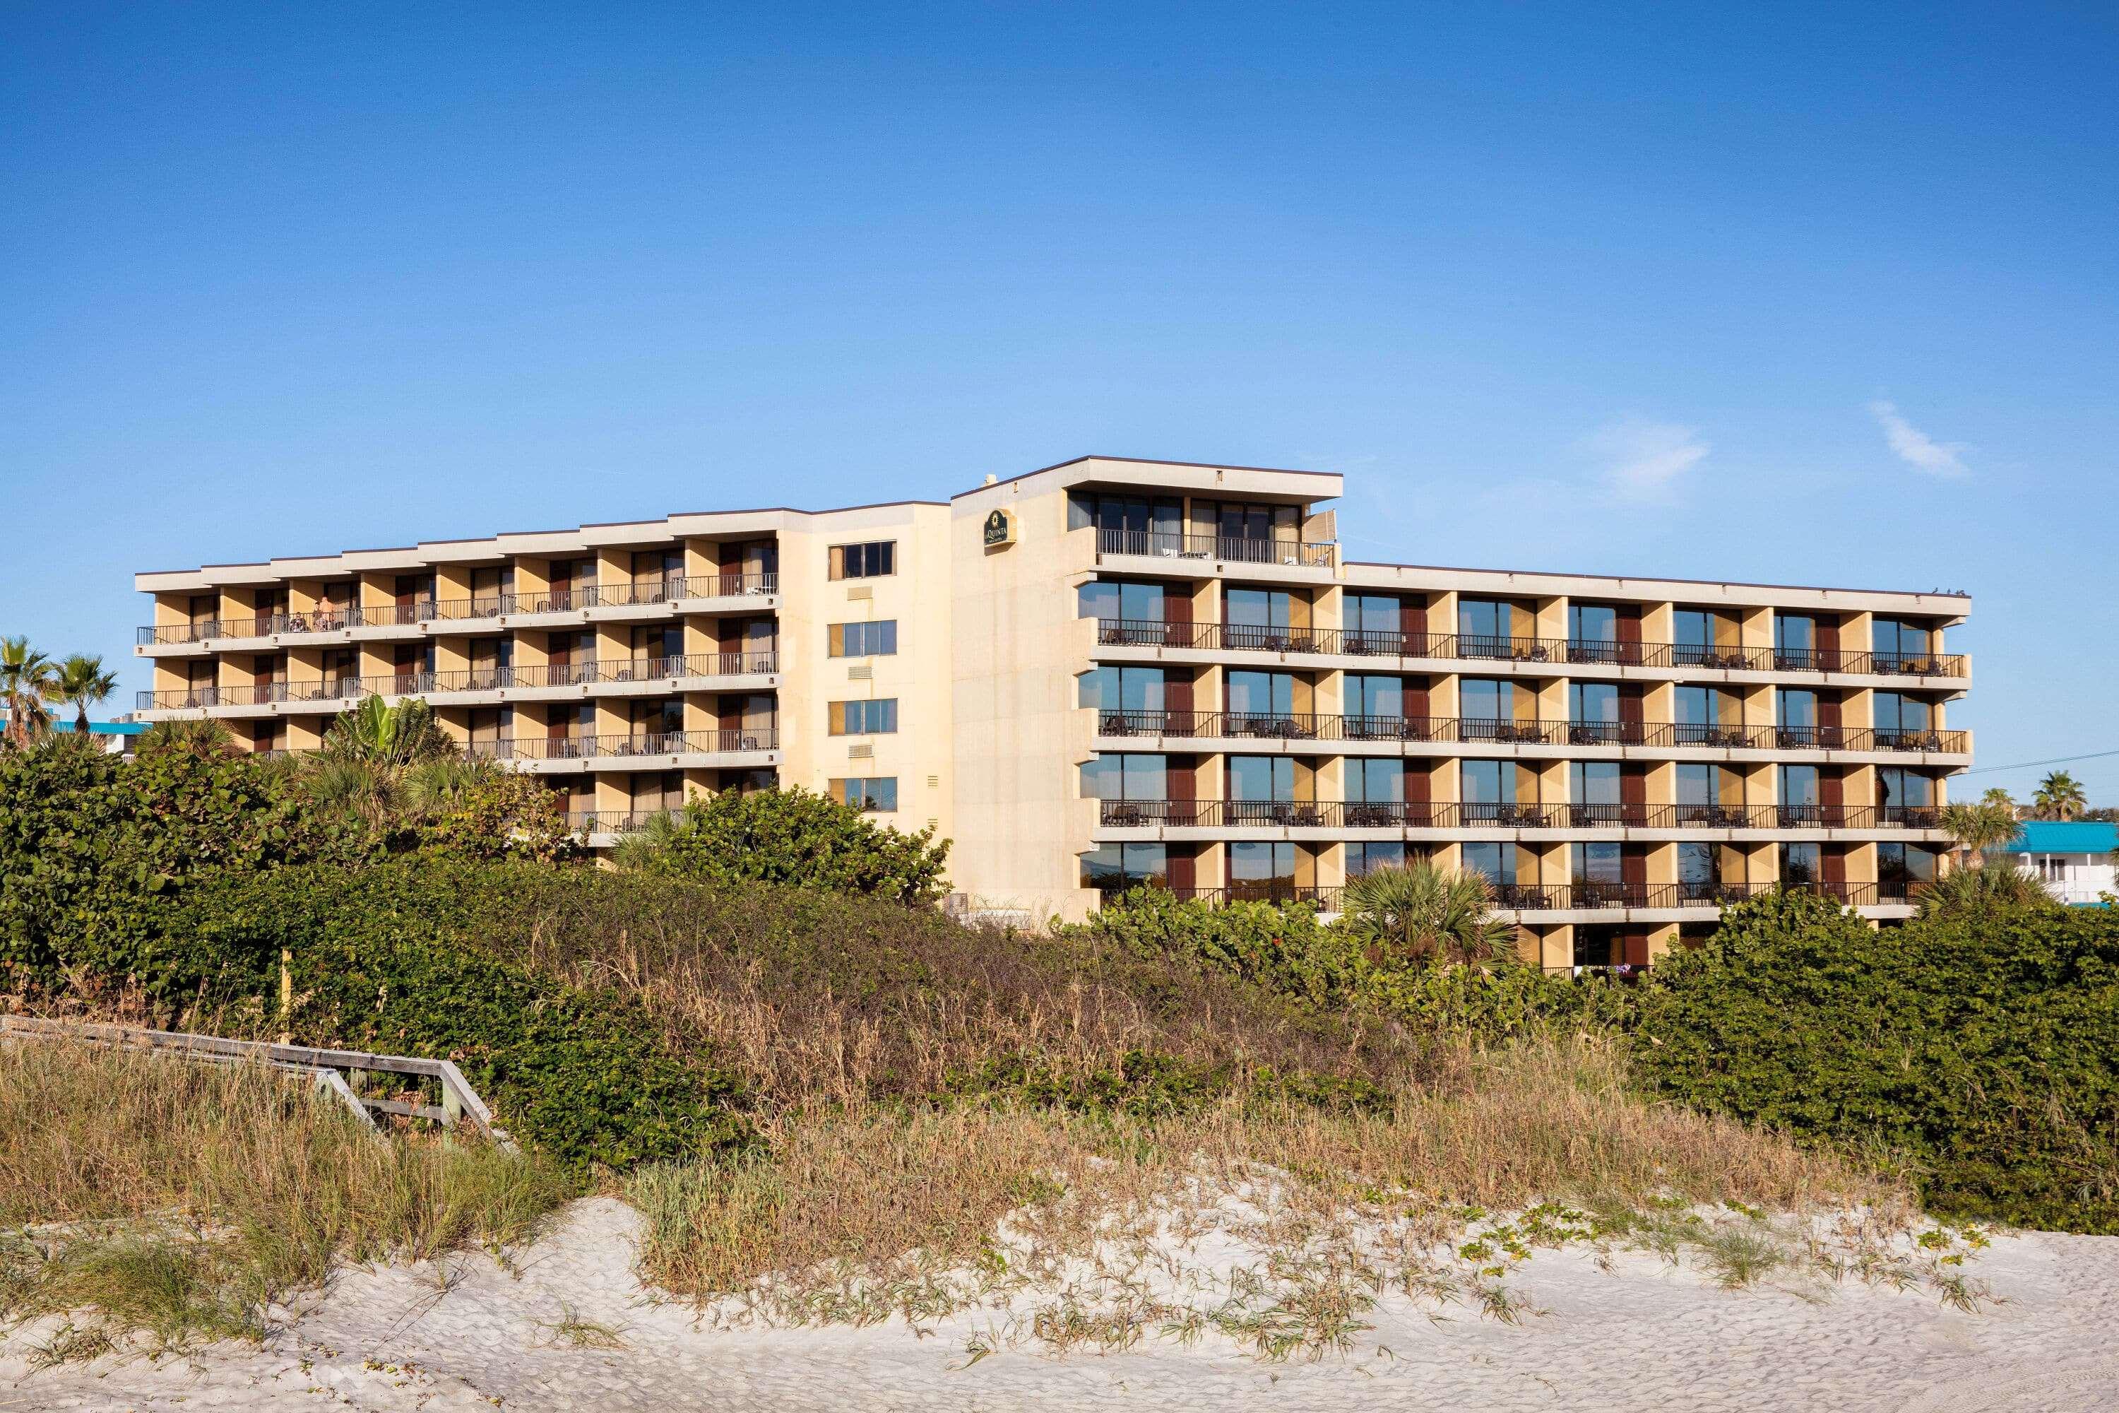
{"type": "Polygon", "coordinates": [[[1943,652],[1820,652],[1682,642],[1407,633],[1388,629],[1263,627],[1250,623],[1161,623],[1098,619],[1098,644],[1117,648],[1204,648],[1212,652],[1326,652],[1335,657],[1420,657],[1481,663],[1585,663],[1606,667],[1699,667],[1704,672],[1841,672],[1962,678],[1964,657],[1943,652]]]}

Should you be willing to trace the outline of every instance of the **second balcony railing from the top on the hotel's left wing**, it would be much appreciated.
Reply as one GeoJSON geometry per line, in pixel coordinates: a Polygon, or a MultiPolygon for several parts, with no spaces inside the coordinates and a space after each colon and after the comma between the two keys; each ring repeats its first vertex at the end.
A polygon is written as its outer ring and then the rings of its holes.
{"type": "Polygon", "coordinates": [[[549,693],[557,688],[661,688],[676,682],[771,676],[778,652],[689,652],[684,657],[606,659],[598,663],[549,663],[540,667],[468,667],[458,672],[394,672],[371,678],[322,678],[314,682],[259,682],[254,686],[176,686],[138,693],[140,712],[197,712],[256,705],[320,705],[341,710],[360,697],[449,697],[456,693],[549,693]]]}

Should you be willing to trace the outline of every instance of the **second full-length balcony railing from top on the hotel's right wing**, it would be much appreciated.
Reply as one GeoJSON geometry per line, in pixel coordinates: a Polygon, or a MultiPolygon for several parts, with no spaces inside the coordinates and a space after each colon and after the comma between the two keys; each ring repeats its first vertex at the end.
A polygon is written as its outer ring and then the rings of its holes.
{"type": "Polygon", "coordinates": [[[1886,727],[1725,727],[1704,722],[1534,720],[1483,716],[1343,716],[1318,712],[1106,712],[1096,733],[1106,739],[1212,739],[1280,744],[1418,744],[1418,746],[1545,746],[1570,748],[1969,754],[1966,731],[1886,727]]]}

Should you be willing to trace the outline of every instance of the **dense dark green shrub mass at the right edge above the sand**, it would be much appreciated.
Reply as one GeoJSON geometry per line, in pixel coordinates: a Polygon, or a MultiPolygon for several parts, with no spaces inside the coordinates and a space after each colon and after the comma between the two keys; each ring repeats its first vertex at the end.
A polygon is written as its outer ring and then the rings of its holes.
{"type": "Polygon", "coordinates": [[[1685,1104],[1911,1159],[1937,1212],[2119,1233],[2119,917],[1964,909],[1873,930],[1808,894],[1727,913],[1640,998],[1685,1104]]]}

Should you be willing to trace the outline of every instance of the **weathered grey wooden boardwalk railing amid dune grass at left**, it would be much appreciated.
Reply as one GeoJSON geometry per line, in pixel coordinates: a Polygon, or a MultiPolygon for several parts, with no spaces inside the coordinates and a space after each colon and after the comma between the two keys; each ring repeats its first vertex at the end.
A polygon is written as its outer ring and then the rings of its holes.
{"type": "Polygon", "coordinates": [[[47,1021],[30,1015],[0,1015],[0,1038],[76,1040],[210,1063],[256,1061],[273,1070],[309,1076],[318,1089],[326,1089],[343,1099],[371,1129],[375,1127],[375,1119],[369,1110],[432,1119],[451,1129],[458,1121],[470,1119],[479,1133],[494,1146],[515,1152],[515,1140],[509,1138],[506,1129],[494,1125],[494,1112],[470,1089],[464,1072],[447,1059],[324,1051],[309,1044],[269,1044],[265,1040],[222,1040],[220,1036],[193,1036],[178,1030],[142,1030],[138,1025],[104,1025],[95,1021],[47,1021]],[[409,1104],[405,1099],[362,1095],[345,1083],[348,1074],[413,1074],[430,1078],[441,1087],[441,1104],[409,1104]]]}

